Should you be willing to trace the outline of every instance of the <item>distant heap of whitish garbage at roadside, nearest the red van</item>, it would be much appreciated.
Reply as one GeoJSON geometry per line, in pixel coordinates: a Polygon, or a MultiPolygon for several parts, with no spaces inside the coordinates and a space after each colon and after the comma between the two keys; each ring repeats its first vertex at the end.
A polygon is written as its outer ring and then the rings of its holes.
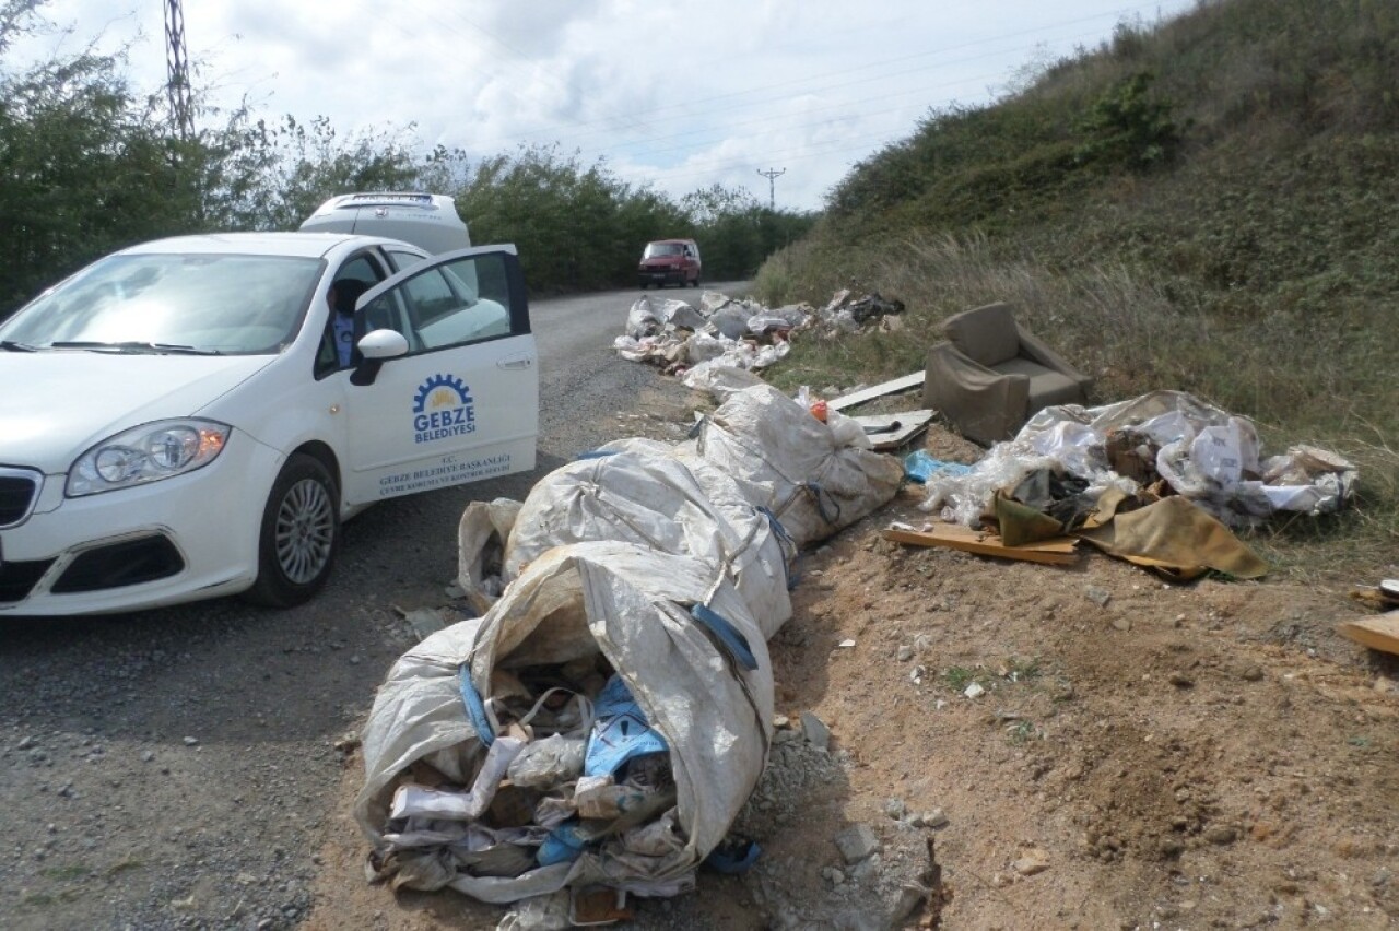
{"type": "Polygon", "coordinates": [[[848,289],[820,309],[809,303],[772,309],[716,291],[705,291],[698,308],[642,295],[627,315],[625,334],[613,345],[624,359],[651,362],[667,375],[686,376],[690,384],[716,368],[768,368],[786,356],[796,331],[858,333],[872,323],[897,320],[902,312],[900,301],[877,294],[855,296],[848,289]]]}

